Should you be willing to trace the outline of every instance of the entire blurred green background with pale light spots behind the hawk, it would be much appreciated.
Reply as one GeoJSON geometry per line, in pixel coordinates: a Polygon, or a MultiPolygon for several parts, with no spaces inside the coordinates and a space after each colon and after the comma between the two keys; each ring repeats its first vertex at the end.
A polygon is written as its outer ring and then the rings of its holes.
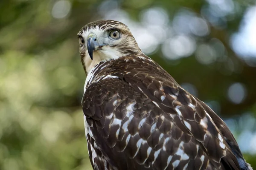
{"type": "Polygon", "coordinates": [[[0,0],[0,170],[92,170],[77,32],[119,20],[256,169],[255,0],[0,0]]]}

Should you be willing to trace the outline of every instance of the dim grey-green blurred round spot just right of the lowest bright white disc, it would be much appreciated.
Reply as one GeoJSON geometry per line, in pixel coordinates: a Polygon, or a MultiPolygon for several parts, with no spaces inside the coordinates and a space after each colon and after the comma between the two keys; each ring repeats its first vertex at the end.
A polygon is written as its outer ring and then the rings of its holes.
{"type": "Polygon", "coordinates": [[[198,45],[195,57],[201,64],[211,64],[217,59],[216,51],[208,44],[198,45]]]}

